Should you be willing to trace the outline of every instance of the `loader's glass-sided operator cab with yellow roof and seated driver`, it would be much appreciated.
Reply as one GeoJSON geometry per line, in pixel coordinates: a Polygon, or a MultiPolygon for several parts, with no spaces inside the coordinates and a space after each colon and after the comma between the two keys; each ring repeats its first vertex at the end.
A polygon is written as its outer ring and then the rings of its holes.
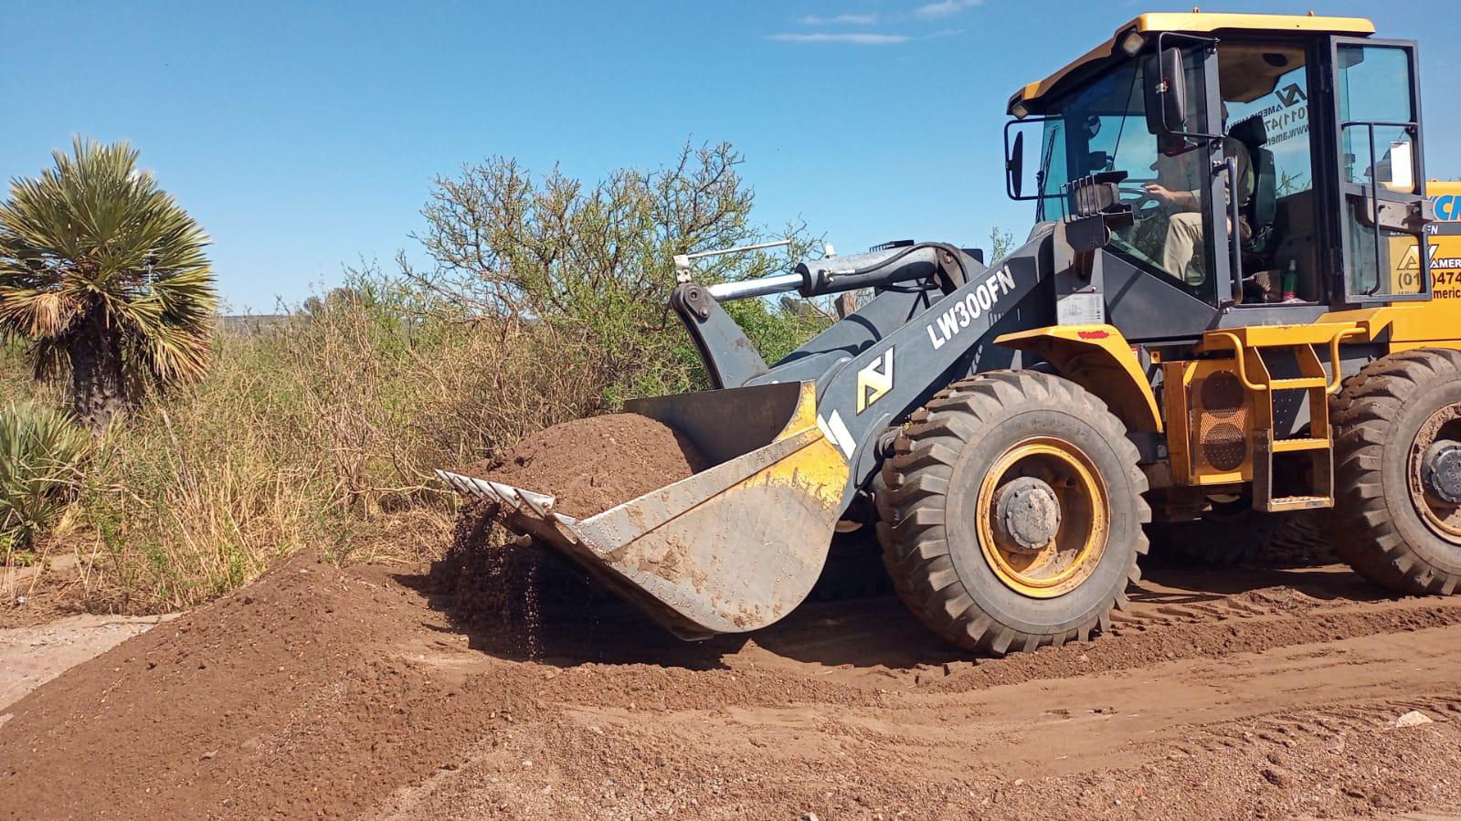
{"type": "Polygon", "coordinates": [[[1010,194],[1068,224],[1090,216],[1091,187],[1113,193],[1099,200],[1100,257],[1118,327],[1124,308],[1148,329],[1154,311],[1191,329],[1198,305],[1216,327],[1429,298],[1416,50],[1373,31],[1356,18],[1137,18],[1011,98],[1010,194]]]}

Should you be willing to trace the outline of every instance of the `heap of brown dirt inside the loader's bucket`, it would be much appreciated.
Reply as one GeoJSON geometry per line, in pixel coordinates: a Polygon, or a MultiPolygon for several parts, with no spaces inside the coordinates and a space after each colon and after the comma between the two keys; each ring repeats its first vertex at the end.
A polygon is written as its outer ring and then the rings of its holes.
{"type": "Polygon", "coordinates": [[[542,429],[498,463],[465,472],[557,497],[557,510],[586,519],[709,466],[679,432],[638,413],[574,419],[542,429]]]}

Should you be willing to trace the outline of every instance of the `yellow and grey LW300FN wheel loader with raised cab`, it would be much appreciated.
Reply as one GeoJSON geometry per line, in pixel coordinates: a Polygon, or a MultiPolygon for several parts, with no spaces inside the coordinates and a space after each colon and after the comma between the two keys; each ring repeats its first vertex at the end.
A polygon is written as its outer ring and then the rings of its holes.
{"type": "Polygon", "coordinates": [[[1318,511],[1404,593],[1461,583],[1461,187],[1416,44],[1369,20],[1143,15],[1018,89],[1029,241],[897,241],[741,282],[676,257],[713,390],[638,399],[712,466],[596,516],[443,472],[684,638],[801,603],[839,529],[976,652],[1086,641],[1150,523],[1318,511]],[[871,291],[767,364],[730,299],[871,291]],[[1221,516],[1220,516],[1221,514],[1221,516]]]}

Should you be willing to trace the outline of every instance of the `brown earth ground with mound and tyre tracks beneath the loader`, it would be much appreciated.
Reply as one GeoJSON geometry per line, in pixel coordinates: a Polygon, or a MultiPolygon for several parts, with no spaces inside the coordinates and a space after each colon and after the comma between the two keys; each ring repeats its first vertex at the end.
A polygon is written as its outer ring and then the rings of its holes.
{"type": "Polygon", "coordinates": [[[0,710],[0,817],[1461,806],[1461,597],[1386,597],[1340,567],[1156,561],[1112,634],[1007,659],[961,657],[885,597],[701,644],[579,602],[510,653],[438,590],[302,555],[73,668],[0,710]],[[1397,726],[1411,710],[1429,723],[1397,726]]]}

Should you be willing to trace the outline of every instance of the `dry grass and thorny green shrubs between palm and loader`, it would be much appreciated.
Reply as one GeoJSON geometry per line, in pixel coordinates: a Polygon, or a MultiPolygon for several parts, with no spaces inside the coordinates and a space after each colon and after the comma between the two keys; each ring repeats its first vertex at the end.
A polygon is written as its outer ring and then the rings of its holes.
{"type": "MultiPolygon", "coordinates": [[[[598,184],[510,161],[437,181],[434,269],[351,275],[282,323],[216,335],[213,371],[149,396],[99,444],[80,494],[91,605],[207,600],[304,546],[438,554],[457,500],[434,467],[501,453],[631,396],[704,387],[666,299],[671,259],[766,240],[729,146],[598,184]]],[[[811,241],[789,228],[802,256],[811,241]]],[[[766,253],[701,276],[785,270],[766,253]]],[[[808,305],[729,305],[774,361],[825,327],[808,305]]],[[[6,377],[0,374],[0,384],[6,377]]]]}

